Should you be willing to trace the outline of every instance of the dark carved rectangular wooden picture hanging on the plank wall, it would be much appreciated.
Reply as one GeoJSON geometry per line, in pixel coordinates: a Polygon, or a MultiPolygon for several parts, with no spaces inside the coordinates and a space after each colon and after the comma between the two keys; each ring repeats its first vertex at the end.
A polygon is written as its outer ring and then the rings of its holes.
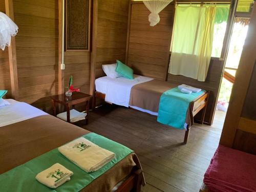
{"type": "Polygon", "coordinates": [[[66,0],[66,51],[90,51],[91,0],[66,0]]]}

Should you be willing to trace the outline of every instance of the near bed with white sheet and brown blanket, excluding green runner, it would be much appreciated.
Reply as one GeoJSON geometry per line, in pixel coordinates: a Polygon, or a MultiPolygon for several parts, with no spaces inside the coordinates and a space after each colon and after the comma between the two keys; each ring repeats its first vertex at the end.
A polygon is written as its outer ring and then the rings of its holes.
{"type": "MultiPolygon", "coordinates": [[[[90,133],[27,103],[7,101],[10,105],[0,108],[0,175],[90,133]]],[[[140,191],[144,183],[140,162],[131,153],[81,191],[140,191]]]]}

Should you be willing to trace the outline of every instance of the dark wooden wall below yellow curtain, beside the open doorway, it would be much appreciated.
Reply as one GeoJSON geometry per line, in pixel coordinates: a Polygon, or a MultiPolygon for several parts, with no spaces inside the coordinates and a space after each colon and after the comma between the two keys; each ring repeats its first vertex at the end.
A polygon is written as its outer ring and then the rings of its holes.
{"type": "MultiPolygon", "coordinates": [[[[180,84],[185,83],[193,87],[199,87],[204,90],[210,91],[207,110],[205,113],[205,122],[209,124],[212,123],[212,120],[214,117],[216,102],[218,99],[218,92],[221,85],[221,78],[223,76],[223,67],[224,67],[223,60],[219,60],[218,58],[212,58],[210,61],[208,74],[205,82],[201,82],[193,78],[185,77],[183,75],[168,74],[167,80],[169,82],[178,82],[180,84]]],[[[199,118],[200,118],[200,115],[201,114],[199,113],[198,114],[199,118]]]]}

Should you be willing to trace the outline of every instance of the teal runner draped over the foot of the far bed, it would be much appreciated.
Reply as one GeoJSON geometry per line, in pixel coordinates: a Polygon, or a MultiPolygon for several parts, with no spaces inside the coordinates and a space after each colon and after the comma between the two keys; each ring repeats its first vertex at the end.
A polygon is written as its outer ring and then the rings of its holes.
{"type": "Polygon", "coordinates": [[[189,103],[205,91],[185,94],[179,88],[173,88],[161,95],[157,121],[162,124],[184,129],[189,103]]]}

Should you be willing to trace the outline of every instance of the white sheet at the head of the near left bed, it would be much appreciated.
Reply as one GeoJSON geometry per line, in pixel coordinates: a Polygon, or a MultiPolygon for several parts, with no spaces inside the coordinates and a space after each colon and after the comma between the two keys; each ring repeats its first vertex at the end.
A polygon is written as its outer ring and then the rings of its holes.
{"type": "Polygon", "coordinates": [[[0,107],[0,127],[31,119],[33,117],[48,115],[25,102],[6,99],[10,105],[0,107]]]}

